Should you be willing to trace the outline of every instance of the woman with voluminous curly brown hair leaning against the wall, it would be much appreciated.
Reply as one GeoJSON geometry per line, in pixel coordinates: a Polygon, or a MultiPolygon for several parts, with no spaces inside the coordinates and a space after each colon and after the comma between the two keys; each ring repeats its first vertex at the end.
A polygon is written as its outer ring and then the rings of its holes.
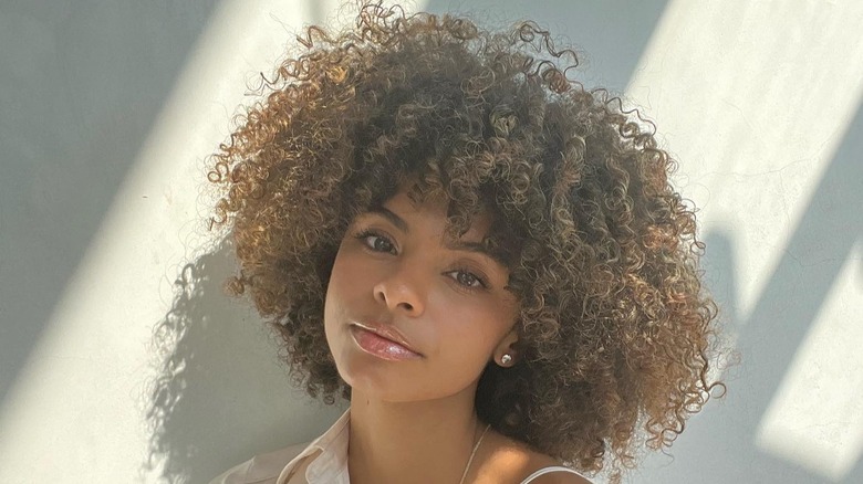
{"type": "Polygon", "coordinates": [[[232,281],[320,439],[217,483],[613,482],[710,390],[695,217],[571,50],[364,2],[310,28],[215,155],[232,281]],[[350,477],[349,477],[350,476],[350,477]]]}

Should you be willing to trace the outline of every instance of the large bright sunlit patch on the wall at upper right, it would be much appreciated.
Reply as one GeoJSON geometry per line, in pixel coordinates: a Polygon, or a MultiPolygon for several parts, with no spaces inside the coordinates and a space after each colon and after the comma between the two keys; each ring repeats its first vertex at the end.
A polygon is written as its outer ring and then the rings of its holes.
{"type": "Polygon", "coordinates": [[[863,2],[674,0],[627,86],[680,161],[701,229],[736,228],[738,323],[860,106],[861,24],[863,2]]]}

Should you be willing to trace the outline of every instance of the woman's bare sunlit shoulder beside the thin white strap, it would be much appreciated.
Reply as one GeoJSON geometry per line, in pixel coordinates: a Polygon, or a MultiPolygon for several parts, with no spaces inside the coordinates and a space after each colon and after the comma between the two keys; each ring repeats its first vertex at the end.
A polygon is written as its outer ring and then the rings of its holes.
{"type": "MultiPolygon", "coordinates": [[[[489,434],[482,469],[477,483],[519,484],[543,467],[562,465],[549,455],[537,452],[528,445],[497,432],[489,434]]],[[[487,439],[488,439],[487,436],[487,439]]],[[[530,481],[531,484],[591,484],[584,477],[571,472],[549,472],[530,481]]]]}

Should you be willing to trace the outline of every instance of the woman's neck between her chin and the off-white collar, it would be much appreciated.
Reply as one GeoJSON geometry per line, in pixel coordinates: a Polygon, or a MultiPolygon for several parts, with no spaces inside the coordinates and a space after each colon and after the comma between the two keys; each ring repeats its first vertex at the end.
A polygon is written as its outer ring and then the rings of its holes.
{"type": "Polygon", "coordinates": [[[480,427],[472,388],[444,399],[403,403],[354,389],[347,454],[351,483],[458,484],[485,429],[480,427]]]}

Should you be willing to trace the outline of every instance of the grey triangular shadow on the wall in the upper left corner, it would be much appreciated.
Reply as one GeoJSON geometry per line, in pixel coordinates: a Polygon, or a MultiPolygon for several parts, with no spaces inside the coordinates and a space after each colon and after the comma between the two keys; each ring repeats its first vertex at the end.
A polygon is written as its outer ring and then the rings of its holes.
{"type": "Polygon", "coordinates": [[[217,3],[0,1],[0,406],[217,3]]]}

